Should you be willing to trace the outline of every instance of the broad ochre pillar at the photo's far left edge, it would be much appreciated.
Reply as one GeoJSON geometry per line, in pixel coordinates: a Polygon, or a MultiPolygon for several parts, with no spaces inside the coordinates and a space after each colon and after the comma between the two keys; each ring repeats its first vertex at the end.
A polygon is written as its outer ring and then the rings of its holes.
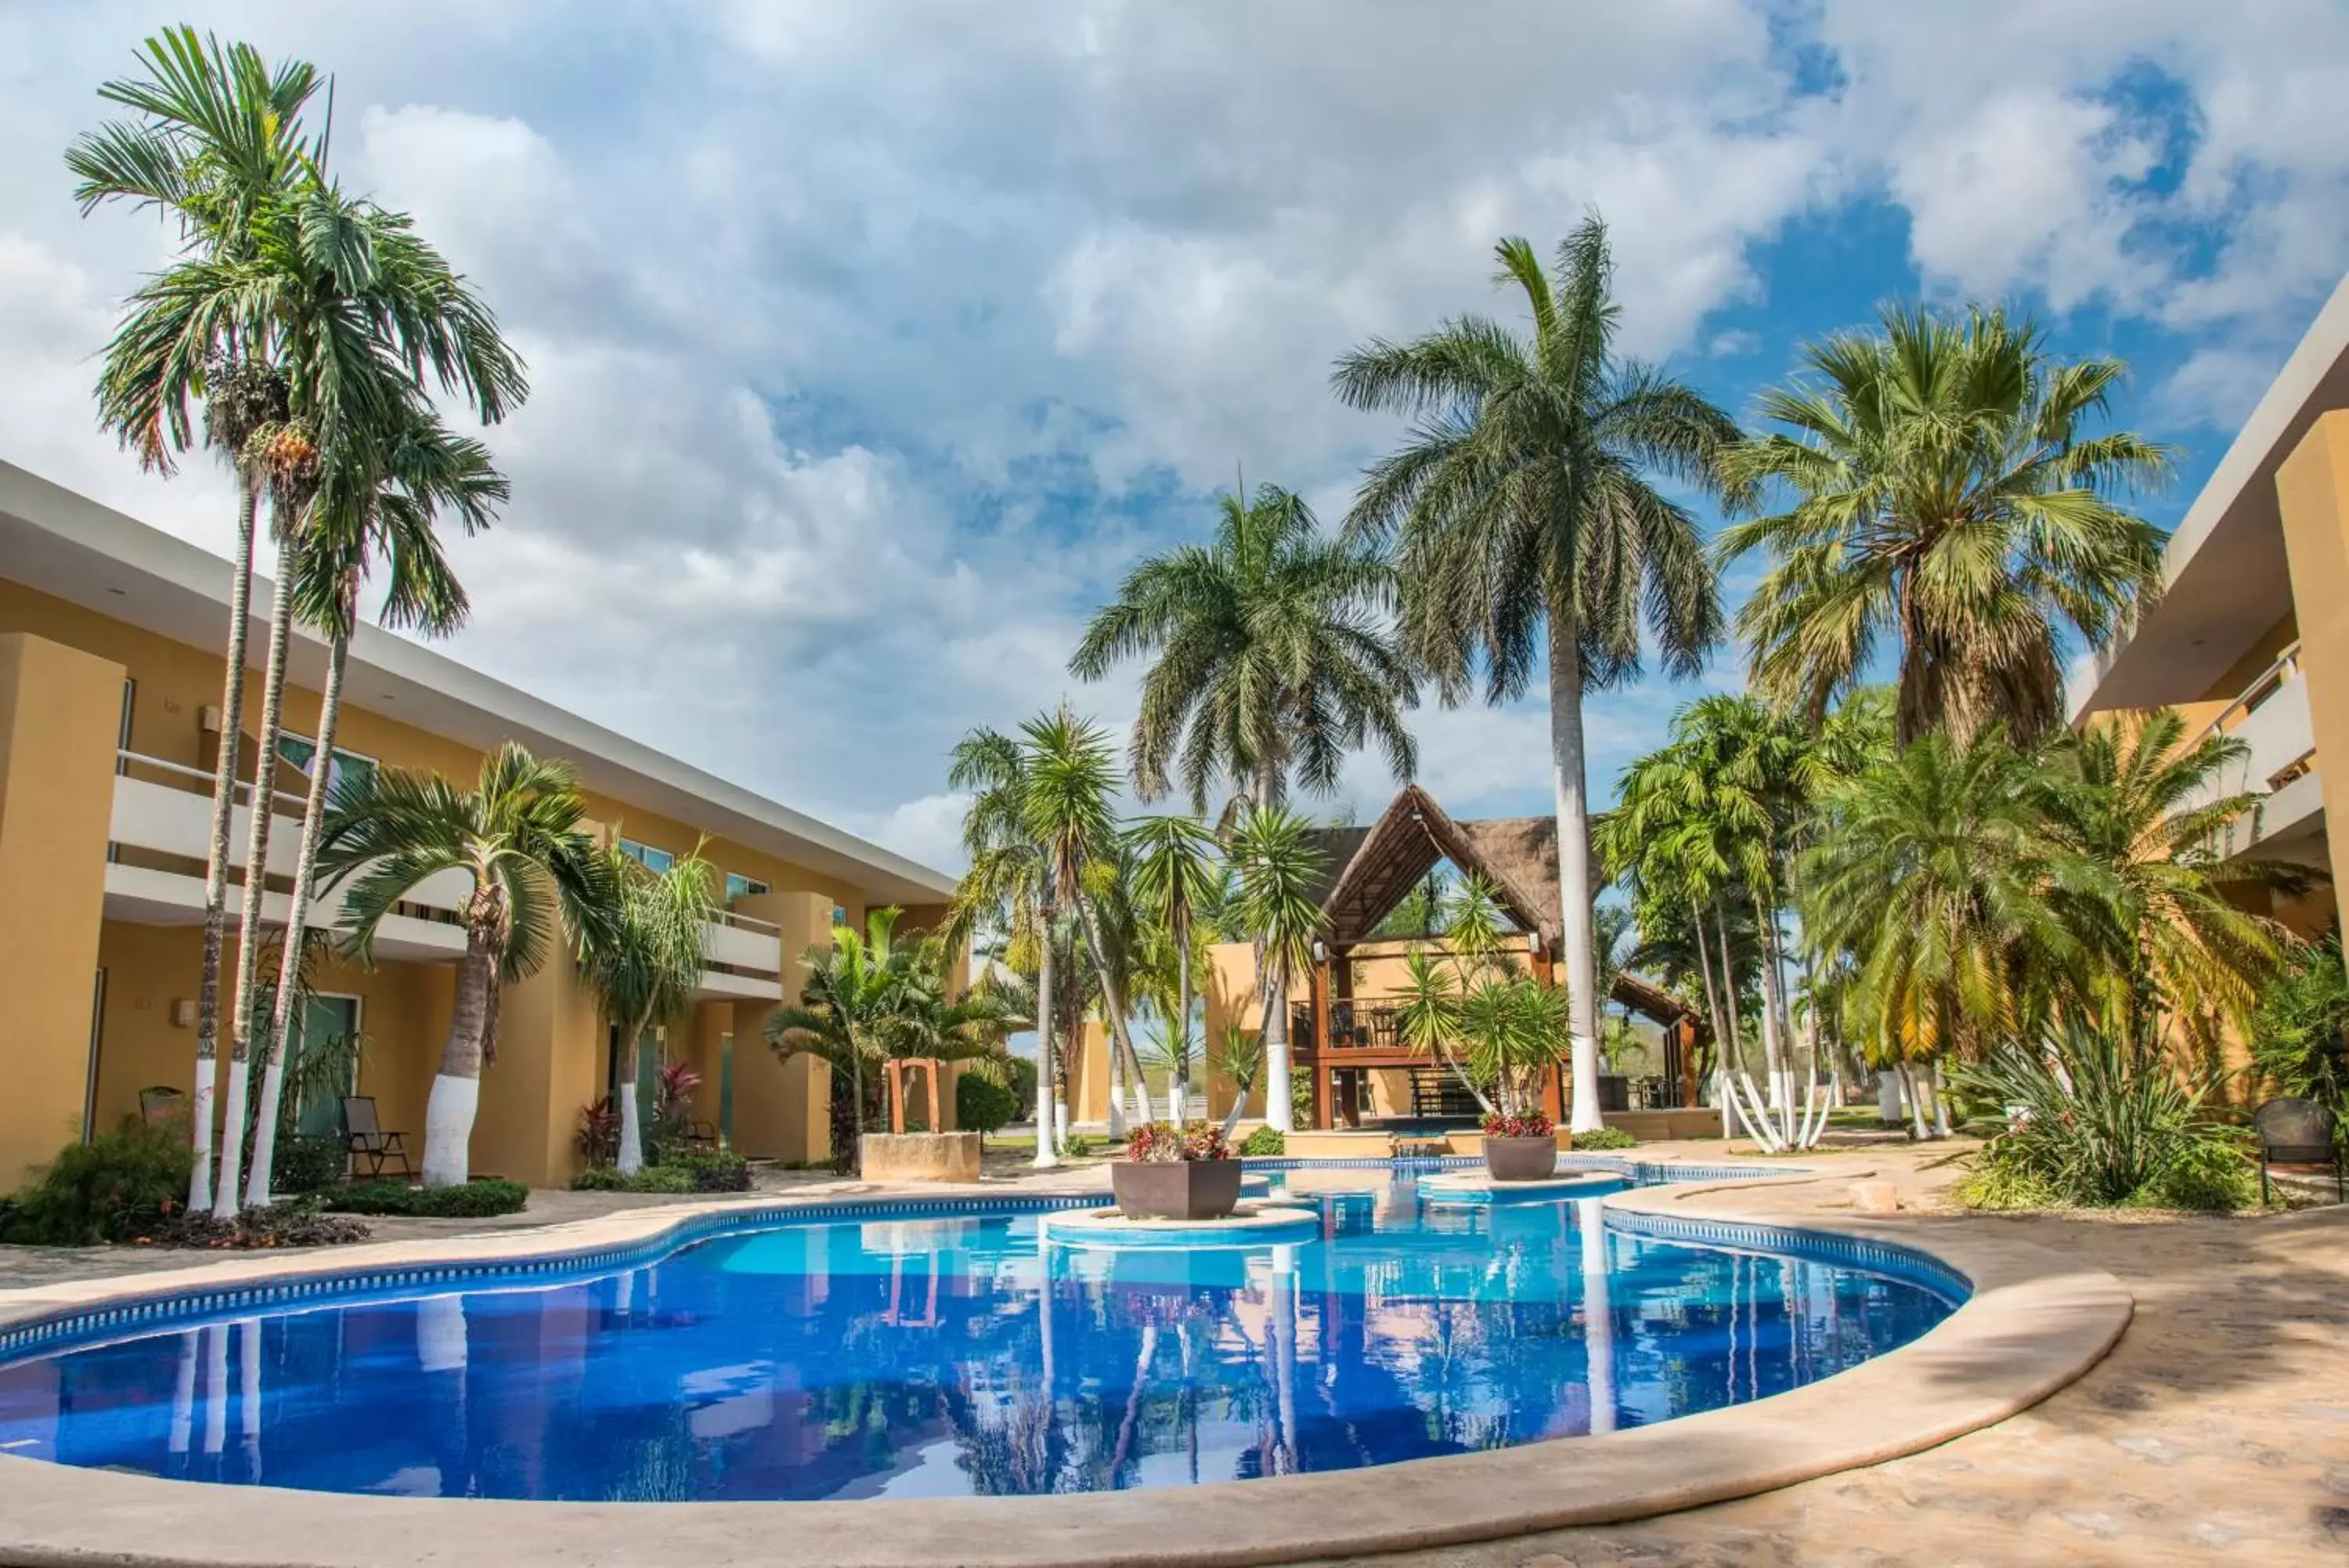
{"type": "Polygon", "coordinates": [[[9,973],[0,1190],[82,1133],[122,682],[122,665],[94,654],[26,632],[0,637],[0,952],[9,973]]]}

